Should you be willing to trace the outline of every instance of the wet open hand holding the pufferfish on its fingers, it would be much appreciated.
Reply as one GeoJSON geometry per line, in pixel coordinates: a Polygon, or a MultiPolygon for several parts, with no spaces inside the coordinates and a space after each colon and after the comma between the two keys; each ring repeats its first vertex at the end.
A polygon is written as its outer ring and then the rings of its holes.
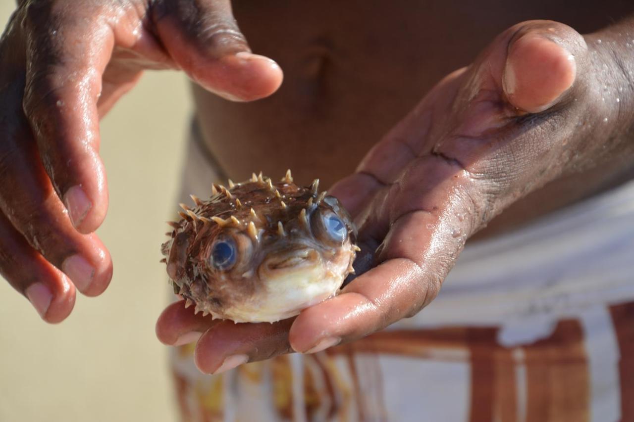
{"type": "Polygon", "coordinates": [[[465,241],[505,207],[573,171],[631,157],[620,136],[631,119],[601,100],[604,80],[622,74],[587,40],[557,22],[508,29],[333,187],[358,223],[366,253],[356,266],[369,268],[339,295],[273,325],[210,321],[178,302],[159,319],[160,340],[199,338],[198,368],[217,373],[351,342],[417,314],[465,241]]]}

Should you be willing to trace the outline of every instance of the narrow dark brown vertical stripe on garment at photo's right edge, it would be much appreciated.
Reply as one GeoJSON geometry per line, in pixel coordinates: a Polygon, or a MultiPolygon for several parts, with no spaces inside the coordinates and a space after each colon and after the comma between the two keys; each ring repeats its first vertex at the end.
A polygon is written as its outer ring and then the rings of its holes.
{"type": "Polygon", "coordinates": [[[634,421],[634,302],[612,305],[610,315],[619,345],[621,421],[634,421]]]}

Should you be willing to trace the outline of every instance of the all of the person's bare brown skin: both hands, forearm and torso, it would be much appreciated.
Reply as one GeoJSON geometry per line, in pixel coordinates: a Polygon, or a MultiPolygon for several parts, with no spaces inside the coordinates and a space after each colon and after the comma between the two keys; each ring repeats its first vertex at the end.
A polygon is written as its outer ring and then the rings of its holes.
{"type": "Polygon", "coordinates": [[[574,12],[240,2],[251,48],[286,72],[279,93],[254,103],[226,98],[272,94],[281,70],[240,53],[249,47],[228,2],[79,3],[23,1],[0,45],[0,172],[10,181],[0,271],[46,321],[68,315],[74,285],[96,295],[110,279],[107,251],[86,234],[107,207],[98,118],[145,68],[182,68],[204,87],[198,118],[228,176],[318,174],[358,222],[372,269],[294,321],[235,325],[168,307],[157,335],[200,337],[204,372],[314,352],[411,316],[489,223],[500,232],[631,177],[634,20],[621,2],[574,12]],[[571,27],[517,23],[538,16],[571,27]],[[604,27],[614,16],[626,19],[604,27]]]}

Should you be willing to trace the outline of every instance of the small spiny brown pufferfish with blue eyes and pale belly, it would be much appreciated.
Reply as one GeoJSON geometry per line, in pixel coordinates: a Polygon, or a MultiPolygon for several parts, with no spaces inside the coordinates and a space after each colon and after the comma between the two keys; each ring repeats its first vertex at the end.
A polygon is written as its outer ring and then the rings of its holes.
{"type": "Polygon", "coordinates": [[[337,198],[253,174],[181,204],[162,245],[174,292],[195,312],[236,323],[280,321],[337,293],[353,270],[356,228],[337,198]]]}

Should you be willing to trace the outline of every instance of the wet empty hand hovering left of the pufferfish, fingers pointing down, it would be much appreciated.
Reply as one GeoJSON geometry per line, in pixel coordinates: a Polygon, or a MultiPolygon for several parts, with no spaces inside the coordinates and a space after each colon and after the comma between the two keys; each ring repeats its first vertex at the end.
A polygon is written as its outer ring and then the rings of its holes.
{"type": "Polygon", "coordinates": [[[0,274],[49,323],[110,282],[99,119],[146,68],[236,101],[281,83],[229,0],[22,0],[0,39],[0,274]]]}

